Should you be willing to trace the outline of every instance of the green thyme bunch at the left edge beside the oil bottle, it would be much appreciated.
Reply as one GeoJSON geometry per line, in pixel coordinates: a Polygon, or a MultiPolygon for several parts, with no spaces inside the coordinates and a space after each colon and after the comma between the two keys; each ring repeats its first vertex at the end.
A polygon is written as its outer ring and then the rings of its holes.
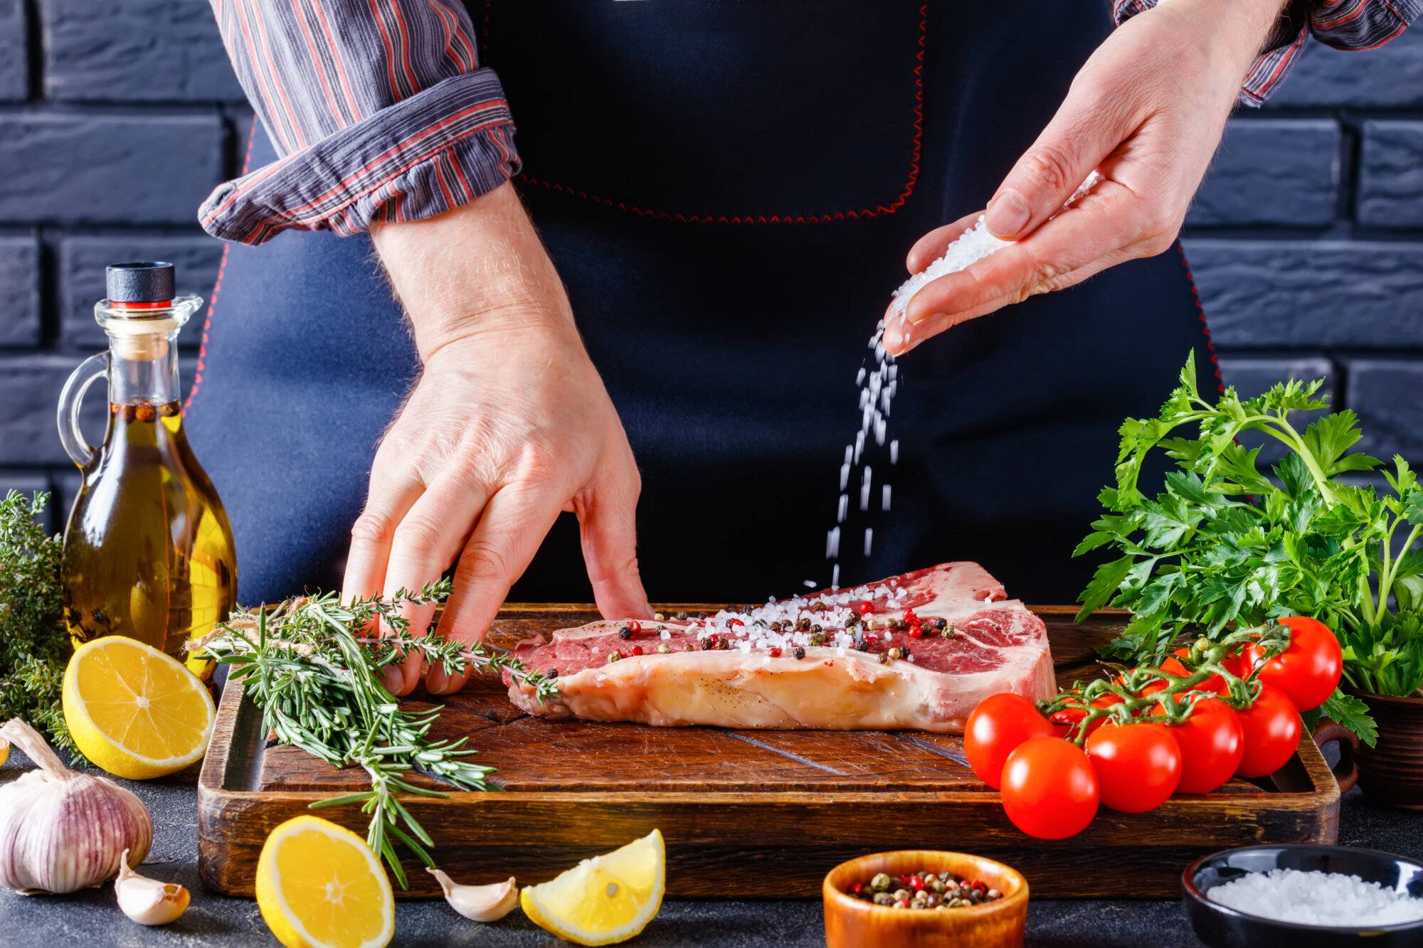
{"type": "Polygon", "coordinates": [[[60,692],[74,646],[64,625],[63,541],[40,524],[48,494],[0,501],[0,720],[18,717],[77,753],[60,692]]]}

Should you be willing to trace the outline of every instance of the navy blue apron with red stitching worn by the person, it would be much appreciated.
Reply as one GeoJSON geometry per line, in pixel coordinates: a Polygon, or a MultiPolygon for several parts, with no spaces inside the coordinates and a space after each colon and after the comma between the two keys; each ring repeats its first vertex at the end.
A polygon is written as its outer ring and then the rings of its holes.
{"type": "MultiPolygon", "coordinates": [[[[993,194],[1110,31],[1107,4],[470,3],[519,188],[643,474],[649,595],[828,582],[855,372],[905,252],[993,194]]],[[[252,167],[273,158],[259,132],[252,167]]],[[[1072,601],[1117,426],[1157,409],[1190,350],[1210,376],[1208,344],[1173,249],[921,346],[899,363],[898,463],[871,441],[869,514],[851,484],[841,584],[969,558],[1017,596],[1072,601]]],[[[417,372],[366,238],[232,246],[189,427],[243,602],[340,586],[417,372]]],[[[571,515],[511,595],[591,599],[571,515]]]]}

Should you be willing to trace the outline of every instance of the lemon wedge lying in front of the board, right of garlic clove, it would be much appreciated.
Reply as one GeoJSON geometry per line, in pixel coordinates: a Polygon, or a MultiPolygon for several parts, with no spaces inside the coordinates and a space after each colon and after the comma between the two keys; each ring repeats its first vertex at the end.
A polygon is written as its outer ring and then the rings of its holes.
{"type": "Polygon", "coordinates": [[[527,885],[519,905],[535,925],[579,945],[612,945],[639,934],[662,908],[667,850],[653,830],[606,855],[583,860],[542,885],[527,885]]]}

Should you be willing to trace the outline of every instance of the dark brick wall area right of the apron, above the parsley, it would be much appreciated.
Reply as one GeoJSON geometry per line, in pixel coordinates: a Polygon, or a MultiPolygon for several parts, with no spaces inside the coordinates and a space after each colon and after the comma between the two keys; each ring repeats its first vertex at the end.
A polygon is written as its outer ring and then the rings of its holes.
{"type": "Polygon", "coordinates": [[[1231,121],[1185,252],[1227,381],[1323,374],[1368,450],[1423,461],[1423,27],[1308,46],[1231,121]]]}

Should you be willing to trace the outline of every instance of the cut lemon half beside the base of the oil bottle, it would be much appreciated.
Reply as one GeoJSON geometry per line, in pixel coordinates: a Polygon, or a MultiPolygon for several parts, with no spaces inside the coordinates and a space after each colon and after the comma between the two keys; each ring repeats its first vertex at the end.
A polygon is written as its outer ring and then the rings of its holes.
{"type": "Polygon", "coordinates": [[[192,672],[121,635],[85,642],[64,669],[64,723],[75,746],[131,780],[201,760],[212,736],[212,696],[192,672]]]}

